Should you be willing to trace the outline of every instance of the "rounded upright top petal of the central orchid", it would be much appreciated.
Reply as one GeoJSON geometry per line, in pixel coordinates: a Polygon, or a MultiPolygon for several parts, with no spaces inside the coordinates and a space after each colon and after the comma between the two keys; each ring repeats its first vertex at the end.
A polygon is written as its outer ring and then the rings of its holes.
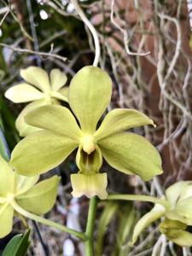
{"type": "Polygon", "coordinates": [[[85,134],[96,131],[96,124],[107,108],[111,94],[112,81],[108,73],[98,67],[83,67],[73,77],[68,101],[85,134]]]}

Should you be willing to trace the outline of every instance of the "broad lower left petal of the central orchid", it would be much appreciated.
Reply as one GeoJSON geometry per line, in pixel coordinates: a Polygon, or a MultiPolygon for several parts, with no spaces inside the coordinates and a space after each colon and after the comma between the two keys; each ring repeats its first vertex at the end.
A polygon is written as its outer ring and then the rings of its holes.
{"type": "Polygon", "coordinates": [[[60,165],[77,147],[78,144],[69,137],[37,131],[16,145],[10,165],[21,175],[35,176],[60,165]]]}

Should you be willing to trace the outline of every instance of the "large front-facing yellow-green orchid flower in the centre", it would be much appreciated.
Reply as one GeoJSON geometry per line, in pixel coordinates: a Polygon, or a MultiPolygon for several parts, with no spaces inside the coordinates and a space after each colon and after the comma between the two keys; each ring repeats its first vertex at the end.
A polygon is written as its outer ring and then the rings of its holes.
{"type": "Polygon", "coordinates": [[[119,172],[136,174],[144,180],[160,174],[161,160],[156,149],[127,129],[154,125],[146,115],[133,109],[113,109],[97,123],[110,102],[112,81],[98,67],[84,67],[69,86],[68,102],[73,113],[61,106],[45,106],[26,115],[26,122],[43,131],[23,139],[14,149],[11,165],[26,176],[47,172],[61,164],[78,148],[73,174],[73,196],[107,196],[107,174],[99,173],[102,156],[119,172]],[[25,155],[25,157],[23,157],[25,155]],[[28,166],[26,170],[26,164],[28,166]]]}

